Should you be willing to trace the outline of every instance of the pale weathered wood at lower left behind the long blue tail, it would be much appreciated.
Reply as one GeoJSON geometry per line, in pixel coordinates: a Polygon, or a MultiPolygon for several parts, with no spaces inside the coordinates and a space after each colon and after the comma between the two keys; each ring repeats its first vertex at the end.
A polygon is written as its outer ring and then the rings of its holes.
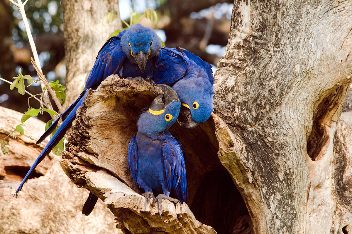
{"type": "MultiPolygon", "coordinates": [[[[11,127],[21,122],[21,117],[19,112],[0,107],[1,140],[10,133],[11,127]]],[[[35,118],[23,125],[25,134],[34,139],[38,139],[45,128],[45,123],[35,118]]],[[[61,156],[50,153],[14,199],[16,188],[43,149],[24,135],[17,133],[16,138],[6,139],[9,153],[0,156],[1,234],[121,233],[115,227],[114,216],[101,202],[90,216],[82,215],[88,191],[77,189],[67,178],[59,164],[61,156]]]]}

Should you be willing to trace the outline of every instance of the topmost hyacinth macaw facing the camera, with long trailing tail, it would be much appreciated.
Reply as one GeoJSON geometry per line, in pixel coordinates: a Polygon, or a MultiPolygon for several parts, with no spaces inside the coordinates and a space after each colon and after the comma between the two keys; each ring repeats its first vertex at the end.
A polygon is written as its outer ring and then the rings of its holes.
{"type": "Polygon", "coordinates": [[[49,136],[56,128],[59,119],[62,119],[62,124],[39,154],[16,190],[14,194],[16,198],[37,165],[64,137],[67,129],[71,127],[73,120],[76,118],[78,107],[83,105],[83,99],[87,95],[88,89],[96,89],[107,76],[112,74],[119,74],[121,78],[141,76],[147,79],[152,77],[160,59],[160,51],[161,41],[158,35],[151,28],[143,27],[140,24],[131,25],[130,28],[120,32],[117,36],[113,36],[103,45],[80,96],[37,141],[37,144],[39,144],[49,136]]]}

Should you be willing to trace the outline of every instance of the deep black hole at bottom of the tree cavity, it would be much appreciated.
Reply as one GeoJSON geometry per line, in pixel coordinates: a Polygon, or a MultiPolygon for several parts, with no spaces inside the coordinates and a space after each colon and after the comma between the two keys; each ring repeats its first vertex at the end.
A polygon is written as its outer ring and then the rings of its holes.
{"type": "Polygon", "coordinates": [[[208,173],[190,209],[200,222],[220,233],[253,233],[246,204],[225,170],[208,173]]]}

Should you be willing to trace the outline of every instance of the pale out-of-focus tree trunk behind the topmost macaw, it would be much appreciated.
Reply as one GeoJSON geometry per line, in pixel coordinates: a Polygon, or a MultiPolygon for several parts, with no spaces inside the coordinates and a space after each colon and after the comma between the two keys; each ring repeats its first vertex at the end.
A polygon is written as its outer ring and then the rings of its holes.
{"type": "Polygon", "coordinates": [[[121,29],[118,0],[63,0],[66,101],[76,100],[93,67],[100,48],[114,31],[121,29]]]}

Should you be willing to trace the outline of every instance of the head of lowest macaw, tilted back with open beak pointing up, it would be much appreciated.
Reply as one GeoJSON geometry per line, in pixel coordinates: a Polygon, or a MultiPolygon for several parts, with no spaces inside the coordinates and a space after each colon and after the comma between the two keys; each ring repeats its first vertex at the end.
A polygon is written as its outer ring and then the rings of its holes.
{"type": "Polygon", "coordinates": [[[181,103],[177,93],[168,85],[156,85],[162,89],[164,94],[157,96],[147,111],[140,114],[137,127],[152,138],[168,129],[176,122],[180,113],[181,103]]]}

